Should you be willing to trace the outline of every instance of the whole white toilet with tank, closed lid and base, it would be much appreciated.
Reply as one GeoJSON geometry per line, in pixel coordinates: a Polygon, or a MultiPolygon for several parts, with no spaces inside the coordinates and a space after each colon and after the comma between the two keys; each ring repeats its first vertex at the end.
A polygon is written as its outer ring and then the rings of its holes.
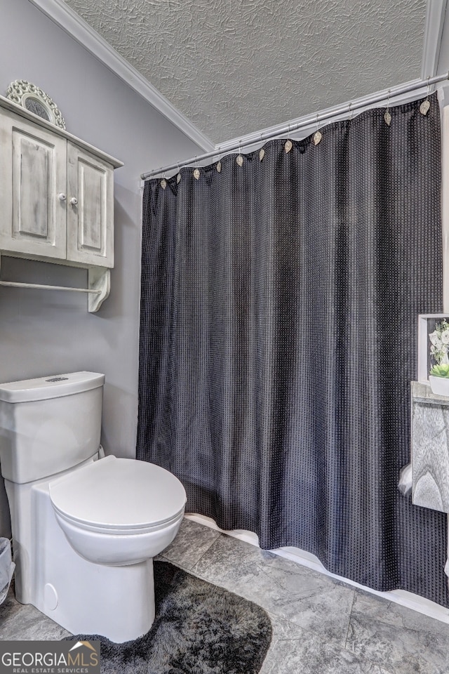
{"type": "Polygon", "coordinates": [[[152,626],[152,557],[175,538],[186,495],[157,465],[100,458],[104,382],[74,372],[1,384],[0,462],[18,601],[74,634],[125,642],[152,626]]]}

